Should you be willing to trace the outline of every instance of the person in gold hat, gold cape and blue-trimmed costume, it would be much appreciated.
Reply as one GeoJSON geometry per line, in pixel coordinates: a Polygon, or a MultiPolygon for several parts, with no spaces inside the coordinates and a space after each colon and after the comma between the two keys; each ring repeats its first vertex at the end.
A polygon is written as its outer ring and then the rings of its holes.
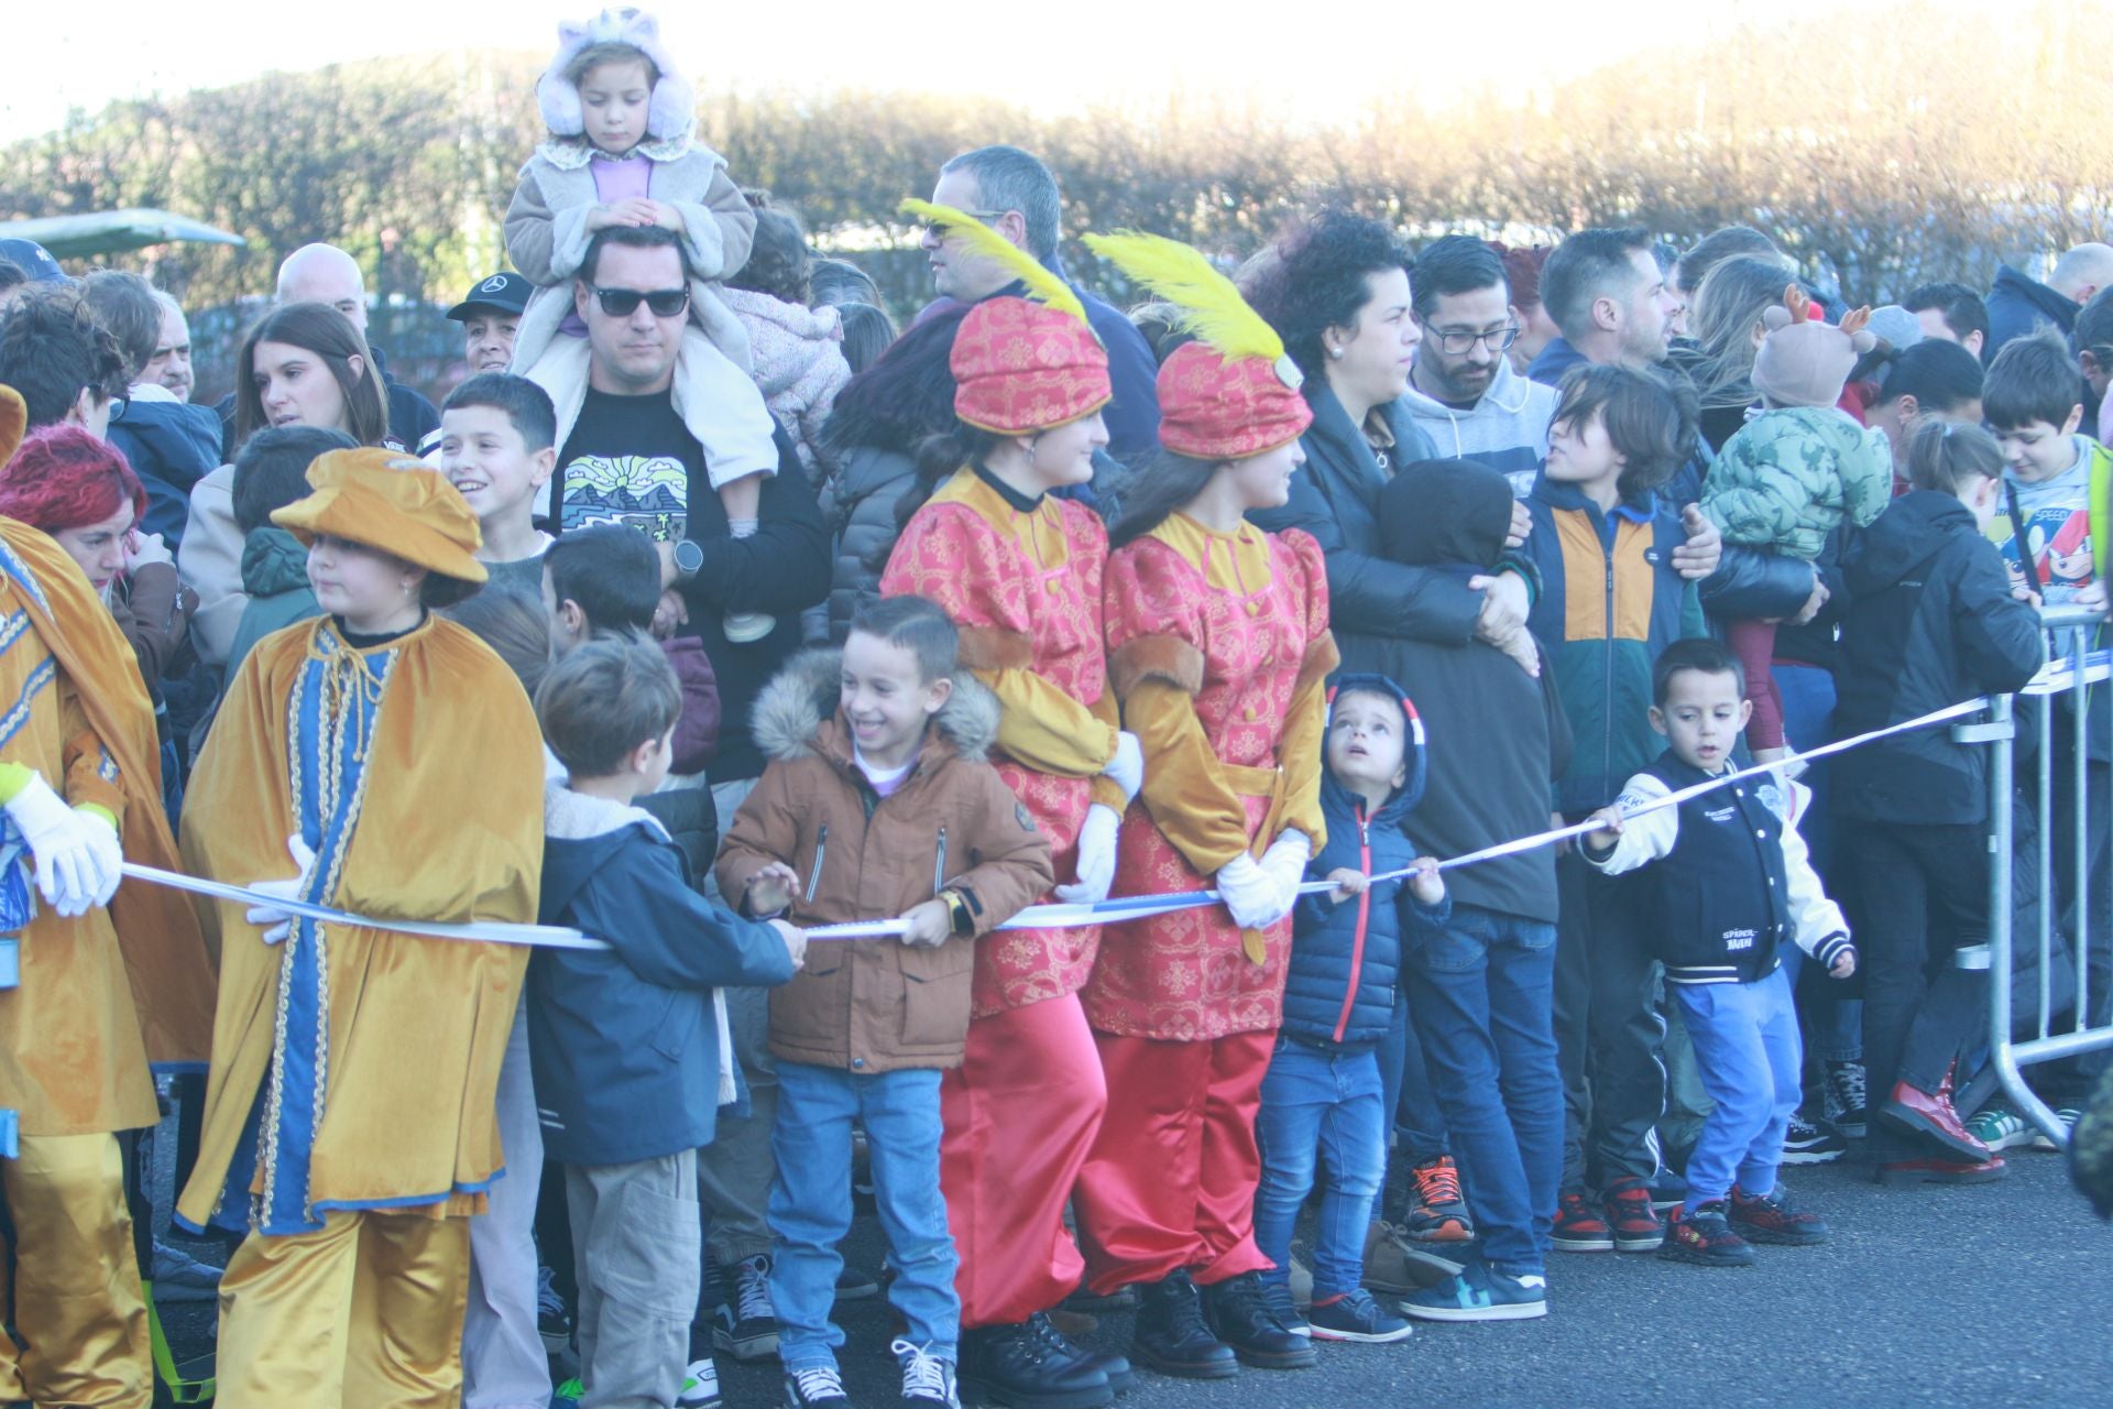
{"type": "Polygon", "coordinates": [[[192,875],[380,919],[205,908],[220,1010],[177,1217],[247,1234],[220,1284],[220,1403],[330,1386],[306,1398],[452,1405],[528,951],[391,921],[535,919],[543,741],[513,672],[435,615],[486,579],[463,496],[372,448],[319,456],[308,484],[273,522],[308,545],[323,615],[237,668],[184,856],[192,875]]]}

